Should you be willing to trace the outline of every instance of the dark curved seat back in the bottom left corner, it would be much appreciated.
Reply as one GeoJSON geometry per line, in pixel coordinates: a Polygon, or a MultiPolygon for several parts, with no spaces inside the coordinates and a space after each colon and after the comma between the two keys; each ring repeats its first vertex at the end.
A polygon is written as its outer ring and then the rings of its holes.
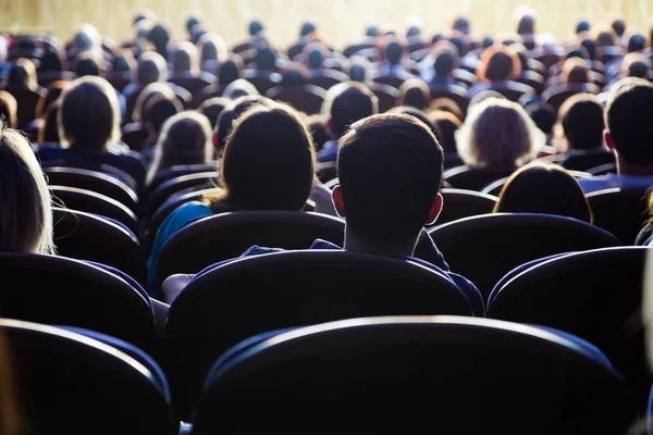
{"type": "MultiPolygon", "coordinates": [[[[0,319],[20,433],[174,434],[164,391],[137,359],[59,327],[0,319]],[[25,431],[25,432],[23,432],[25,431]]],[[[3,353],[4,353],[3,352],[3,353]]],[[[7,388],[7,385],[3,386],[7,388]]]]}

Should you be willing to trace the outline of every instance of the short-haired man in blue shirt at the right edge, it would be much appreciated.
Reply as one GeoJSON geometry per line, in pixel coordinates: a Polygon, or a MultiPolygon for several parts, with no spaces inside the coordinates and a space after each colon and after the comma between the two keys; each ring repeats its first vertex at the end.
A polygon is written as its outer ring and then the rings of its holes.
{"type": "Polygon", "coordinates": [[[653,86],[629,78],[607,107],[605,142],[616,156],[617,175],[580,179],[586,192],[653,186],[653,86]]]}

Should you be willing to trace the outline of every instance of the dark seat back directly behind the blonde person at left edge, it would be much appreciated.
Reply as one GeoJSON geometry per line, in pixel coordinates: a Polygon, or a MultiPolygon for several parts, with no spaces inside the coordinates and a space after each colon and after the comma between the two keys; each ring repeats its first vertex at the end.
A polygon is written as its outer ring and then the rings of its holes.
{"type": "Polygon", "coordinates": [[[78,326],[156,347],[151,302],[106,270],[64,257],[0,253],[0,316],[78,326]],[[9,285],[11,283],[11,285],[9,285]]]}

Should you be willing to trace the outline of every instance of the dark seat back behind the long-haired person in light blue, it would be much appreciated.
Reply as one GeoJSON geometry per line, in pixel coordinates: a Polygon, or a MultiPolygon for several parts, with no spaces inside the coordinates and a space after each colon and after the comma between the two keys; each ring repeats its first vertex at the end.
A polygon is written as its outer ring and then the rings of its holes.
{"type": "Polygon", "coordinates": [[[157,285],[175,273],[197,273],[239,257],[252,245],[308,249],[321,238],[343,245],[344,221],[319,213],[247,211],[223,213],[188,224],[161,248],[157,285]]]}

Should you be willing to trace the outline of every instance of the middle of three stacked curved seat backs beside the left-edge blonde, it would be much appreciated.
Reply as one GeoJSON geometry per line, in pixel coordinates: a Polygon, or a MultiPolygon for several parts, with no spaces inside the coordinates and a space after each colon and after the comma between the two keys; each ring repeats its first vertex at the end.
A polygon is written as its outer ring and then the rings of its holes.
{"type": "Polygon", "coordinates": [[[136,215],[122,202],[95,191],[69,186],[50,186],[56,203],[62,203],[66,209],[99,214],[126,226],[137,235],[136,215]]]}

